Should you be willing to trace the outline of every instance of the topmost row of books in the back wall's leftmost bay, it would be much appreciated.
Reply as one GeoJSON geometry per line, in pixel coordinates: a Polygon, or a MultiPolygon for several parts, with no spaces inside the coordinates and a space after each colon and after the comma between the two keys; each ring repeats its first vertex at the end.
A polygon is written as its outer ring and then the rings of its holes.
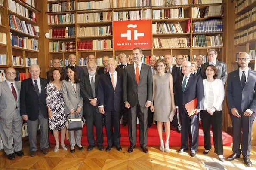
{"type": "Polygon", "coordinates": [[[48,12],[63,12],[76,10],[75,1],[47,4],[48,12]]]}

